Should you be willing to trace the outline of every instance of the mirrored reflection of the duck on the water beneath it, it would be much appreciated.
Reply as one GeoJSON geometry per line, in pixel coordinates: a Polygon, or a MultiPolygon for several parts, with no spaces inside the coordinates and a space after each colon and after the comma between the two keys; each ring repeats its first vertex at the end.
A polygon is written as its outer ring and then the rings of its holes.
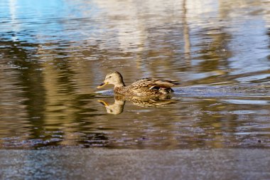
{"type": "Polygon", "coordinates": [[[155,98],[129,97],[116,95],[114,96],[114,104],[112,105],[109,105],[109,103],[105,102],[104,100],[97,100],[97,101],[100,102],[102,105],[104,105],[107,113],[112,115],[119,115],[124,110],[126,100],[140,107],[161,107],[175,102],[175,100],[171,100],[171,96],[168,95],[155,98]]]}

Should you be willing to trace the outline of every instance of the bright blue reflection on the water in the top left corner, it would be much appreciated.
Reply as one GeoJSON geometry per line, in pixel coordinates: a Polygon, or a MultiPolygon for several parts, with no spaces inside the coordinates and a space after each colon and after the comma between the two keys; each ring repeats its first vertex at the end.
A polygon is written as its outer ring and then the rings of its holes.
{"type": "Polygon", "coordinates": [[[55,37],[78,41],[97,29],[97,23],[84,26],[98,11],[95,4],[78,7],[61,0],[4,0],[0,2],[0,11],[1,37],[13,41],[45,43],[56,40],[55,37]]]}

